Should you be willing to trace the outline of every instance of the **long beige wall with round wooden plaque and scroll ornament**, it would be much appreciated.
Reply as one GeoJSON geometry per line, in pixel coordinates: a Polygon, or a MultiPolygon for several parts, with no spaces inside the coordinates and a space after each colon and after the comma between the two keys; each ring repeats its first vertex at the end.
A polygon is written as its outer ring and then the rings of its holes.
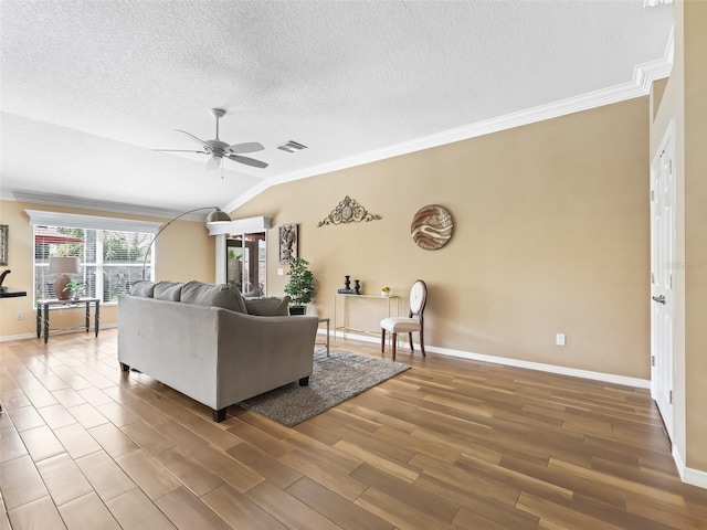
{"type": "MultiPolygon", "coordinates": [[[[267,190],[232,215],[268,215],[268,294],[277,226],[299,225],[316,308],[333,316],[344,275],[366,294],[430,289],[434,347],[647,379],[650,292],[648,98],[474,138],[267,190]],[[317,227],[350,195],[383,219],[317,227]],[[426,204],[455,223],[442,250],[410,237],[426,204]],[[555,346],[563,332],[567,346],[555,346]]],[[[286,269],[286,267],[285,267],[286,269]]],[[[377,329],[383,306],[358,300],[377,329]]]]}

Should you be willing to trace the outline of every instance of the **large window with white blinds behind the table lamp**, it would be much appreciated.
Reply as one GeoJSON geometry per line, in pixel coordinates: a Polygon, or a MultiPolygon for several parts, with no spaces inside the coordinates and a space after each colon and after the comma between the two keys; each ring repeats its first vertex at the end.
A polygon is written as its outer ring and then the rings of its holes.
{"type": "MultiPolygon", "coordinates": [[[[53,256],[78,257],[81,273],[72,279],[78,283],[82,296],[98,298],[104,304],[116,303],[119,295],[128,293],[135,282],[143,279],[146,254],[159,226],[157,223],[50,212],[28,213],[34,224],[35,301],[55,297],[55,278],[48,274],[49,258],[53,256]],[[97,227],[101,225],[103,227],[97,227]],[[126,227],[138,230],[114,230],[126,227]]],[[[151,277],[150,261],[148,257],[147,278],[151,277]]]]}

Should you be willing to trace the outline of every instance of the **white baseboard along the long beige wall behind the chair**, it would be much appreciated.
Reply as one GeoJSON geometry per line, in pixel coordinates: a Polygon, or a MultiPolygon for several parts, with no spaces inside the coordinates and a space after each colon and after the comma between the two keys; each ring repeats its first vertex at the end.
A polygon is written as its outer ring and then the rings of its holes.
{"type": "MultiPolygon", "coordinates": [[[[335,333],[335,337],[344,337],[344,333],[341,331],[337,331],[335,333]]],[[[380,342],[380,336],[372,337],[372,336],[358,335],[358,333],[346,333],[346,337],[349,339],[361,340],[365,342],[380,342]]],[[[399,341],[399,344],[404,348],[410,348],[410,344],[402,340],[399,341]]],[[[615,375],[613,373],[593,372],[591,370],[580,370],[577,368],[558,367],[556,364],[545,364],[542,362],[523,361],[519,359],[510,359],[507,357],[486,356],[483,353],[453,350],[450,348],[439,348],[435,346],[425,346],[425,350],[431,351],[433,353],[440,353],[442,356],[460,357],[462,359],[469,359],[473,361],[493,362],[494,364],[505,364],[508,367],[526,368],[528,370],[538,370],[541,372],[557,373],[560,375],[570,375],[573,378],[591,379],[594,381],[602,381],[604,383],[614,383],[614,384],[621,384],[624,386],[634,386],[639,389],[651,388],[651,381],[647,379],[627,378],[625,375],[615,375]]]]}

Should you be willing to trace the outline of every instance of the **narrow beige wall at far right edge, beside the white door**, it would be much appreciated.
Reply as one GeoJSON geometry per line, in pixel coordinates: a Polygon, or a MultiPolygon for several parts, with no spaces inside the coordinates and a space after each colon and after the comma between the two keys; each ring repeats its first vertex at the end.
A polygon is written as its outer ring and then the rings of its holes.
{"type": "Polygon", "coordinates": [[[651,155],[671,120],[676,129],[674,443],[688,468],[707,471],[707,3],[677,1],[675,62],[665,91],[654,91],[651,155]]]}

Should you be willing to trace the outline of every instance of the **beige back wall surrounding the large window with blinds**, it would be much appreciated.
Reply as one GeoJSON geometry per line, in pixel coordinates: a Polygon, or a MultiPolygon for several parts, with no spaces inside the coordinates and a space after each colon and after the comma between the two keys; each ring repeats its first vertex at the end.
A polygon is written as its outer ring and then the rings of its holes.
{"type": "MultiPolygon", "coordinates": [[[[18,290],[27,290],[28,296],[21,298],[0,299],[0,338],[25,336],[36,332],[36,312],[33,308],[32,287],[32,225],[25,209],[56,212],[81,213],[85,215],[123,216],[149,221],[166,221],[134,215],[117,215],[115,213],[83,211],[76,209],[28,204],[12,201],[0,201],[0,224],[9,225],[10,247],[9,264],[12,271],[3,285],[18,290]],[[23,320],[17,320],[18,311],[24,314],[23,320]]],[[[213,282],[214,278],[214,239],[207,235],[203,223],[177,221],[159,236],[156,242],[157,279],[189,280],[201,279],[213,282]]],[[[101,308],[101,324],[115,325],[117,309],[115,305],[104,305],[101,308]]],[[[52,328],[67,328],[83,322],[82,309],[53,310],[51,314],[52,328]]]]}

